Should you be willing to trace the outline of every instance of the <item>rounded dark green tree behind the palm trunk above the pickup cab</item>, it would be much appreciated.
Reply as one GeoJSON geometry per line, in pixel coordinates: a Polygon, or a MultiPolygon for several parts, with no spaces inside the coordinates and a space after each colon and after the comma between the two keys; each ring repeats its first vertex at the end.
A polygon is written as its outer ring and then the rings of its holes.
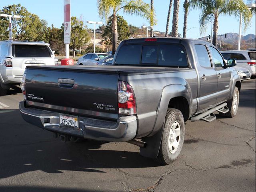
{"type": "MultiPolygon", "coordinates": [[[[113,41],[113,32],[112,32],[112,17],[108,19],[108,23],[106,25],[106,28],[104,29],[104,33],[102,34],[102,38],[104,40],[110,40],[113,41]]],[[[122,40],[127,39],[130,36],[129,32],[129,26],[126,20],[122,16],[117,15],[117,32],[118,32],[118,38],[117,41],[120,43],[122,40]]]]}

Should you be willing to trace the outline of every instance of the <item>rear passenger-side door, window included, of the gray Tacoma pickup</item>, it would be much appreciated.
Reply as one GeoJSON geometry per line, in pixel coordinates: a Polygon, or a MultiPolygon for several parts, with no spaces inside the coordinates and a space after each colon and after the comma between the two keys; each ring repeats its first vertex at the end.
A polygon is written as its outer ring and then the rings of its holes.
{"type": "Polygon", "coordinates": [[[216,103],[217,74],[212,66],[210,54],[204,44],[195,44],[197,68],[200,77],[199,111],[216,103]]]}

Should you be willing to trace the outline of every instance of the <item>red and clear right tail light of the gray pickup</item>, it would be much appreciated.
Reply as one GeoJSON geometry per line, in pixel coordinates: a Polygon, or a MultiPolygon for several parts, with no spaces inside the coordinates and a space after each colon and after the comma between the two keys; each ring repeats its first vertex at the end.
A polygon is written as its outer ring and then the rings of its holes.
{"type": "Polygon", "coordinates": [[[118,82],[118,109],[119,114],[136,114],[136,100],[132,87],[124,81],[118,82]]]}

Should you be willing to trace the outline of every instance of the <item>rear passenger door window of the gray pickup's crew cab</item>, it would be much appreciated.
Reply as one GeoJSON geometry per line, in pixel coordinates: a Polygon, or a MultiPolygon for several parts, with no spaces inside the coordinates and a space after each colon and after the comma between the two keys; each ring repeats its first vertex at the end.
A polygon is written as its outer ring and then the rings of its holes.
{"type": "Polygon", "coordinates": [[[209,53],[204,45],[195,45],[198,62],[202,67],[212,67],[209,53]]]}

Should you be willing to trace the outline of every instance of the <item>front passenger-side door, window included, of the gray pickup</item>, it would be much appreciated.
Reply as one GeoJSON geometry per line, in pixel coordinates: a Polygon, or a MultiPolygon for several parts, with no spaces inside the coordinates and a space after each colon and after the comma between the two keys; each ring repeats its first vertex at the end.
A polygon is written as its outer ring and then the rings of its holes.
{"type": "Polygon", "coordinates": [[[209,46],[209,50],[218,78],[216,100],[216,103],[218,103],[226,100],[229,96],[231,72],[229,68],[224,68],[224,60],[218,50],[213,46],[209,46]]]}

